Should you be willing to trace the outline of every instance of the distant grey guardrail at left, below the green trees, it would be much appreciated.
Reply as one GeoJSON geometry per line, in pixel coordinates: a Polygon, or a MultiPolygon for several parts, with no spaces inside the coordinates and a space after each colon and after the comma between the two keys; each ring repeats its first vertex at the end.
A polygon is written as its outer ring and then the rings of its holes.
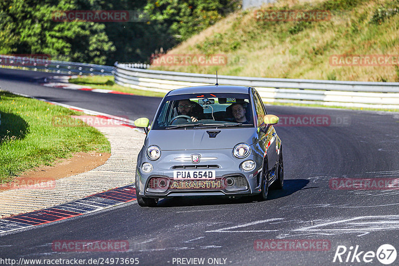
{"type": "Polygon", "coordinates": [[[0,55],[0,67],[16,67],[69,75],[114,75],[115,67],[35,58],[35,55],[0,55]]]}

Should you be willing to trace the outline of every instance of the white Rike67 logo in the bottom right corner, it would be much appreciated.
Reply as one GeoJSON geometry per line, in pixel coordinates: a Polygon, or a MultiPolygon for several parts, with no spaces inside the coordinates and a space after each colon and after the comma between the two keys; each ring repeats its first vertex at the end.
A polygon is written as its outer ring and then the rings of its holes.
{"type": "Polygon", "coordinates": [[[334,255],[333,263],[371,263],[375,258],[385,265],[390,265],[395,262],[397,252],[394,246],[390,244],[381,245],[377,252],[374,251],[361,251],[359,246],[356,245],[355,249],[351,246],[349,249],[345,246],[338,246],[334,255]]]}

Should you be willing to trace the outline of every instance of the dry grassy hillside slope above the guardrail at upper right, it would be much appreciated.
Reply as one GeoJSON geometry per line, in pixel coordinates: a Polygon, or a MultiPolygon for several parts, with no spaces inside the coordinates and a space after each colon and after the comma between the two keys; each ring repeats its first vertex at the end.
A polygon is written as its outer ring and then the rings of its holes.
{"type": "Polygon", "coordinates": [[[168,54],[222,54],[218,66],[153,69],[220,75],[399,82],[399,65],[334,66],[333,55],[399,55],[399,0],[279,0],[237,11],[168,54]],[[326,10],[324,21],[268,21],[271,10],[326,10]]]}

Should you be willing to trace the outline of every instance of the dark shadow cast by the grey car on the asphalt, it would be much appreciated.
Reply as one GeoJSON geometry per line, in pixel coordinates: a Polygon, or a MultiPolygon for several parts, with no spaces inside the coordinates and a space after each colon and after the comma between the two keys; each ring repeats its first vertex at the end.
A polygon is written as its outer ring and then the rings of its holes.
{"type": "MultiPolygon", "coordinates": [[[[279,190],[269,190],[267,200],[274,200],[289,196],[301,189],[303,189],[309,180],[306,179],[287,179],[284,180],[284,188],[279,190]]],[[[228,205],[228,204],[244,204],[256,202],[254,197],[241,197],[241,198],[223,198],[211,196],[199,197],[174,197],[167,199],[160,199],[157,207],[182,207],[182,206],[206,206],[206,205],[228,205]]]]}

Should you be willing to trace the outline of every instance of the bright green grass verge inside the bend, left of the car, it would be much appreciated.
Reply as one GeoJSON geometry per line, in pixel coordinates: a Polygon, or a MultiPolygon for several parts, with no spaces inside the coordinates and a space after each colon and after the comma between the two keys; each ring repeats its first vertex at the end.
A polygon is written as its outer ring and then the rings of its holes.
{"type": "Polygon", "coordinates": [[[0,91],[0,184],[12,181],[25,170],[51,165],[74,152],[110,152],[108,139],[86,127],[55,127],[57,116],[79,112],[0,91]]]}

